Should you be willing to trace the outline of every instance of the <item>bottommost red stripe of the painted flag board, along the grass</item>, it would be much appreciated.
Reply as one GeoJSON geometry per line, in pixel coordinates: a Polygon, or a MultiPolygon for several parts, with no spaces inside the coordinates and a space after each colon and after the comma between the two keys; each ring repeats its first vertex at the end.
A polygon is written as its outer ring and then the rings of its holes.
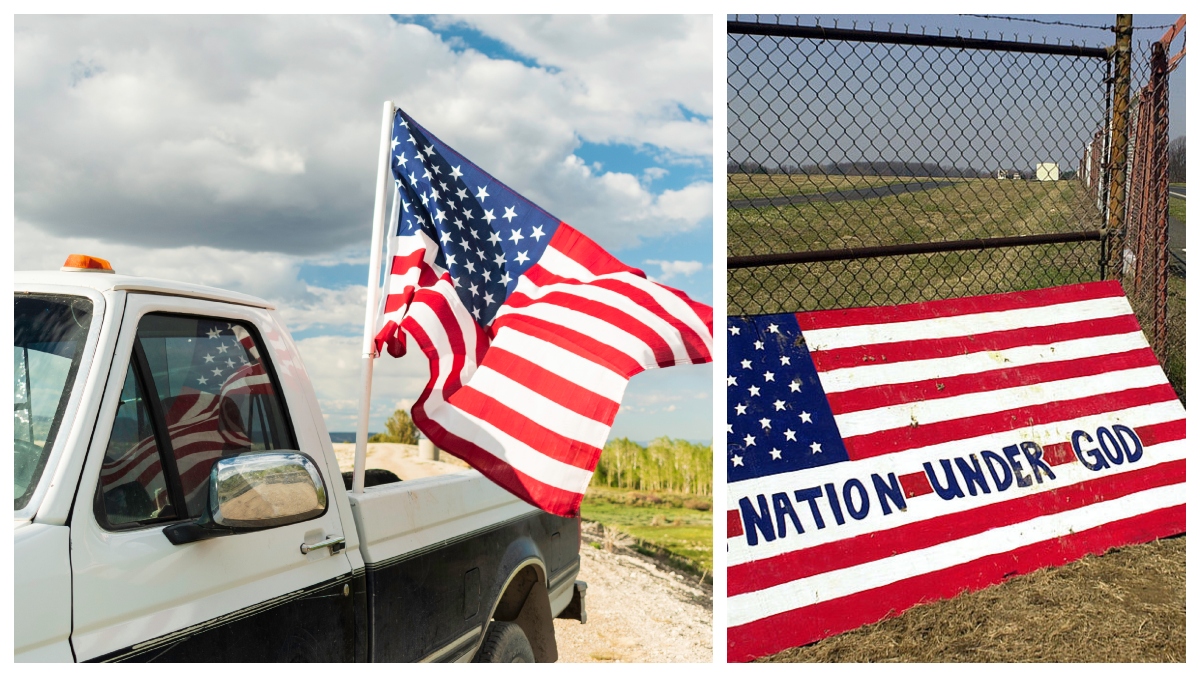
{"type": "Polygon", "coordinates": [[[748,661],[896,616],[918,604],[949,599],[1014,575],[1058,567],[1110,547],[1148,543],[1186,529],[1183,505],[1154,510],[1012,551],[930,571],[728,629],[728,660],[748,661]]]}

